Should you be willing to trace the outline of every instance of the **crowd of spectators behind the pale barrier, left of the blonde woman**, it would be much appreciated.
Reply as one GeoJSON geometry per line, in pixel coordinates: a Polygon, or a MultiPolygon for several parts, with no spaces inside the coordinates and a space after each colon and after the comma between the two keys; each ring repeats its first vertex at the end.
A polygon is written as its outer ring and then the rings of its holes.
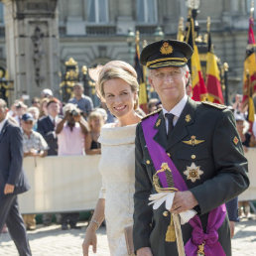
{"type": "MultiPolygon", "coordinates": [[[[73,97],[64,104],[51,89],[42,90],[31,105],[15,100],[7,117],[22,131],[23,157],[72,156],[100,154],[98,137],[101,127],[114,117],[104,108],[94,108],[90,97],[83,94],[81,83],[73,85],[73,97]]],[[[77,228],[79,213],[57,214],[64,230],[77,228]]],[[[23,214],[27,230],[36,229],[36,214],[23,214]]],[[[43,224],[51,224],[53,214],[43,214],[43,224]]],[[[4,226],[2,232],[7,232],[4,226]]]]}

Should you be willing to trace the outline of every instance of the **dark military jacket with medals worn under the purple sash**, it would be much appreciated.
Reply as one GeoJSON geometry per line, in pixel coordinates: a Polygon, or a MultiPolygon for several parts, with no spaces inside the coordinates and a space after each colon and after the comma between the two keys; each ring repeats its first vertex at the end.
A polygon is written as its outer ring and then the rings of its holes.
{"type": "MultiPolygon", "coordinates": [[[[245,191],[249,186],[246,175],[247,160],[243,156],[233,114],[224,106],[188,99],[169,139],[167,139],[162,111],[159,113],[155,129],[158,129],[158,132],[154,139],[165,148],[198,201],[197,211],[205,231],[208,212],[245,191]],[[192,140],[192,136],[203,142],[194,146],[183,142],[192,140]],[[184,174],[192,163],[203,172],[199,180],[194,182],[188,180],[184,174]]],[[[149,195],[156,192],[152,185],[155,170],[141,124],[137,126],[135,144],[133,231],[135,250],[149,246],[154,256],[178,255],[176,242],[165,242],[170,223],[170,214],[163,215],[166,210],[165,203],[154,211],[152,205],[148,205],[149,195]]],[[[186,244],[191,238],[191,225],[189,223],[182,225],[182,231],[186,244]]],[[[226,255],[231,255],[227,216],[218,229],[218,235],[226,255]]]]}

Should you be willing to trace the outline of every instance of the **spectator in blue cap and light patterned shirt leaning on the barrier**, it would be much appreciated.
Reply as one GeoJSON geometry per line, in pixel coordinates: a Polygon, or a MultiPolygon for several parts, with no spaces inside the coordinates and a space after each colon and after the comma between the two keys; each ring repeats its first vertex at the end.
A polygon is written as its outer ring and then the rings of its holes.
{"type": "MultiPolygon", "coordinates": [[[[22,116],[21,127],[23,131],[23,153],[24,157],[45,157],[48,145],[43,136],[33,131],[34,118],[30,113],[22,116]]],[[[27,230],[36,229],[36,214],[23,214],[27,230]]]]}

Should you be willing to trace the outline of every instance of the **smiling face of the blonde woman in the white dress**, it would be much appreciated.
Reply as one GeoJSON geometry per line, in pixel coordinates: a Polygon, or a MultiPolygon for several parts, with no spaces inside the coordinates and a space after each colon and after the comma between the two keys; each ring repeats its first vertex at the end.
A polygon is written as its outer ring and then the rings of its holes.
{"type": "Polygon", "coordinates": [[[103,84],[105,101],[109,111],[117,118],[134,111],[136,92],[131,85],[120,78],[107,80],[103,84]]]}

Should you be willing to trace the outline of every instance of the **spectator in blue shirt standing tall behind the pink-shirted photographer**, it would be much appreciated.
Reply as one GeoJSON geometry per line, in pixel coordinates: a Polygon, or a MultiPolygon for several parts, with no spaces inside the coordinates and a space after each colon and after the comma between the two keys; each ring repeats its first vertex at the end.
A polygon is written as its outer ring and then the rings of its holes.
{"type": "Polygon", "coordinates": [[[93,109],[93,103],[90,97],[83,94],[83,86],[77,82],[73,85],[74,97],[68,100],[68,103],[77,105],[81,110],[83,117],[87,117],[93,109]]]}

